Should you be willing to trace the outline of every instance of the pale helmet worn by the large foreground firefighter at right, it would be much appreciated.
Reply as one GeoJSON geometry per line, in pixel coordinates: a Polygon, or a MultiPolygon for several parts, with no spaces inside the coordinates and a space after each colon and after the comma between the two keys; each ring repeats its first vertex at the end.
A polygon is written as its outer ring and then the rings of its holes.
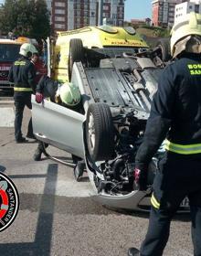
{"type": "Polygon", "coordinates": [[[201,15],[194,12],[186,14],[186,16],[174,25],[171,36],[170,50],[171,55],[175,58],[185,50],[186,44],[191,39],[191,36],[201,37],[201,15]]]}

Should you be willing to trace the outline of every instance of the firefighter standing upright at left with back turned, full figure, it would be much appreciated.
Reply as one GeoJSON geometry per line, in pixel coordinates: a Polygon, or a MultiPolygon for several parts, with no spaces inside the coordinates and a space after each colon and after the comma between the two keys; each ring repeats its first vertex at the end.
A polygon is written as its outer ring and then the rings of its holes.
{"type": "MultiPolygon", "coordinates": [[[[36,90],[36,71],[33,63],[30,61],[34,53],[37,53],[37,48],[34,45],[23,44],[19,50],[20,57],[14,62],[8,74],[8,80],[14,83],[16,143],[26,142],[26,138],[22,136],[21,127],[25,106],[30,110],[32,109],[31,93],[36,90]]],[[[26,137],[34,138],[31,118],[28,123],[26,137]]]]}

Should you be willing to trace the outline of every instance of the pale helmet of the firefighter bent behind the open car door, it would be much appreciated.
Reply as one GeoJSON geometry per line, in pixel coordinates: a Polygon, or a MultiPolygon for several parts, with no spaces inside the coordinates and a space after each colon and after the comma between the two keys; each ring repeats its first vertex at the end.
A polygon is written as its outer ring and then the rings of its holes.
{"type": "Polygon", "coordinates": [[[69,107],[73,107],[79,104],[79,88],[75,86],[72,82],[66,82],[63,85],[61,85],[59,95],[60,100],[69,107]]]}

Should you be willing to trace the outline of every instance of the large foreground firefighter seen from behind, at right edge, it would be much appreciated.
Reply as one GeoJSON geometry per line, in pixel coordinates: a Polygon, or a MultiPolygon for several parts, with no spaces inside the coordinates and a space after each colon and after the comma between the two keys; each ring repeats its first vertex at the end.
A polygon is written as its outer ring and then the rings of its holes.
{"type": "Polygon", "coordinates": [[[163,255],[170,222],[185,197],[192,216],[194,255],[201,255],[201,15],[187,14],[175,24],[171,55],[153,97],[143,143],[135,157],[135,182],[146,189],[147,167],[166,138],[166,152],[153,181],[147,234],[140,251],[163,255]]]}

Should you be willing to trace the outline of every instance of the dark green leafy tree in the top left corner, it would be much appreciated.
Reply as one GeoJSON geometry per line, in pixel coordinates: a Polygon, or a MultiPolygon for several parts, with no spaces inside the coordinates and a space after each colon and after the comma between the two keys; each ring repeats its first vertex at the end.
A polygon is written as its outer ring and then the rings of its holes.
{"type": "Polygon", "coordinates": [[[44,0],[5,0],[0,10],[0,30],[16,37],[46,38],[50,34],[48,8],[44,0]]]}

